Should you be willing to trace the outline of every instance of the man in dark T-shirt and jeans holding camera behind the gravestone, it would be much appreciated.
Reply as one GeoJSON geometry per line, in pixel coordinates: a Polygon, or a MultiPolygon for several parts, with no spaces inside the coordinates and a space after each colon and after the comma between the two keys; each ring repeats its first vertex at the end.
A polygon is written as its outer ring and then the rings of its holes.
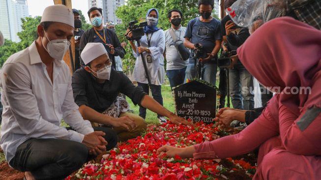
{"type": "MultiPolygon", "coordinates": [[[[204,47],[207,58],[199,59],[204,64],[202,68],[202,79],[215,85],[217,53],[221,48],[221,24],[220,21],[211,16],[213,6],[213,0],[200,0],[198,2],[201,16],[188,22],[184,36],[184,46],[195,50],[195,45],[200,43],[204,47]]],[[[191,53],[192,56],[190,57],[189,64],[186,68],[185,82],[186,79],[193,79],[196,77],[195,60],[192,58],[193,54],[194,53],[191,53]]]]}

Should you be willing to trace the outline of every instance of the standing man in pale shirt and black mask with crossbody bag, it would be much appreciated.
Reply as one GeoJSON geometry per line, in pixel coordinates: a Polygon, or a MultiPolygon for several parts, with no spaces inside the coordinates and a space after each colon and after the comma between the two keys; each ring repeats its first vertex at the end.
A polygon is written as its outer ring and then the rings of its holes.
{"type": "Polygon", "coordinates": [[[186,28],[180,25],[183,14],[178,9],[172,9],[168,12],[168,20],[171,23],[171,28],[165,30],[165,54],[166,54],[166,75],[170,81],[171,88],[184,83],[185,70],[188,64],[188,59],[182,60],[175,48],[175,41],[170,33],[174,31],[175,39],[184,41],[186,28]]]}

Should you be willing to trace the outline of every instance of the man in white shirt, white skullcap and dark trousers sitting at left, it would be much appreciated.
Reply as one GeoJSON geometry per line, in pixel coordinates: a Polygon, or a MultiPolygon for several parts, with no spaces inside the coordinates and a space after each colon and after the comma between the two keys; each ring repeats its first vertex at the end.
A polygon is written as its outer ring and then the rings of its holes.
{"type": "Polygon", "coordinates": [[[108,128],[94,131],[74,102],[70,70],[62,60],[74,32],[72,11],[48,6],[37,32],[30,47],[2,66],[0,146],[9,165],[26,172],[25,179],[64,179],[115,147],[117,134],[108,128]],[[59,126],[62,119],[69,130],[59,126]]]}

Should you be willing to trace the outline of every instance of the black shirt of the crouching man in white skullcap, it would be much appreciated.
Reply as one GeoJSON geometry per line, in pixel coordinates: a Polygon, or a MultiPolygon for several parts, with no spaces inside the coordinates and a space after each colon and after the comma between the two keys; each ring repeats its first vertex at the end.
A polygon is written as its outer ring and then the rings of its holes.
{"type": "Polygon", "coordinates": [[[116,100],[119,92],[132,99],[135,105],[141,105],[146,95],[140,86],[135,87],[125,74],[114,69],[110,80],[103,84],[98,83],[85,69],[78,69],[72,75],[71,86],[78,106],[85,104],[99,113],[104,112],[116,100]]]}

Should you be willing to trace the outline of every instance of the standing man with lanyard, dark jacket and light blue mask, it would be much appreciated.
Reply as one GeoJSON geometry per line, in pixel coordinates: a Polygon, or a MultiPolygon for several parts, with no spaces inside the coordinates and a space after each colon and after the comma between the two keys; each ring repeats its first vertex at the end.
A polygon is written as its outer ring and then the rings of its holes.
{"type": "MultiPolygon", "coordinates": [[[[88,42],[100,42],[102,43],[109,58],[112,60],[112,68],[116,68],[115,56],[124,58],[125,50],[121,47],[119,39],[113,30],[109,30],[103,26],[102,9],[98,7],[91,7],[88,10],[88,17],[92,24],[92,28],[87,30],[82,36],[80,41],[79,54],[81,55],[83,49],[88,42]]],[[[80,57],[80,65],[85,66],[83,60],[80,57]]]]}

